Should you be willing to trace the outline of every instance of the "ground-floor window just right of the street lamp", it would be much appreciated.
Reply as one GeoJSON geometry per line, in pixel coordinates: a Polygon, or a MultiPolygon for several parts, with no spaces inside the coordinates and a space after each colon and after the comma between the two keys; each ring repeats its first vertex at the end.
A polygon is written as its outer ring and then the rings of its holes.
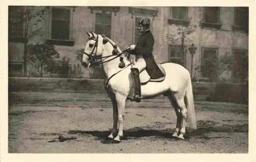
{"type": "Polygon", "coordinates": [[[201,77],[209,79],[213,82],[217,75],[217,55],[216,48],[202,48],[201,77]]]}

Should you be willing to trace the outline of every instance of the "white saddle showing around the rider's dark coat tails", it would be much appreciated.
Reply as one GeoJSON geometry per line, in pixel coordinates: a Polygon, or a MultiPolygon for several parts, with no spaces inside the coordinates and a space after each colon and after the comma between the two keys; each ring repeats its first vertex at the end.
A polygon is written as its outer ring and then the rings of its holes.
{"type": "Polygon", "coordinates": [[[160,78],[157,78],[157,79],[152,79],[150,77],[150,75],[148,75],[147,71],[144,69],[140,72],[140,75],[139,75],[141,85],[145,85],[148,82],[162,82],[165,79],[166,73],[165,73],[165,70],[164,70],[163,66],[161,64],[157,64],[157,66],[160,68],[160,70],[162,71],[164,76],[160,77],[160,78]]]}

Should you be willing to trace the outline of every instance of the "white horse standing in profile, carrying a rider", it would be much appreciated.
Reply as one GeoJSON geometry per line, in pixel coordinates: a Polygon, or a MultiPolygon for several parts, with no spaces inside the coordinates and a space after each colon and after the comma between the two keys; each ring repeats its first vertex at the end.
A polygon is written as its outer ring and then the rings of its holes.
{"type": "MultiPolygon", "coordinates": [[[[89,41],[84,48],[82,65],[89,67],[93,64],[102,64],[103,66],[106,74],[105,89],[113,103],[113,129],[108,138],[114,139],[114,142],[120,142],[123,138],[125,101],[133,86],[132,65],[123,55],[124,52],[112,40],[92,31],[87,32],[87,34],[89,41]],[[113,55],[114,50],[118,50],[119,54],[113,55]],[[118,67],[120,56],[124,58],[123,61],[126,65],[124,68],[118,67]],[[96,59],[100,59],[100,61],[95,63],[96,59]]],[[[162,67],[165,70],[165,79],[162,82],[147,82],[141,85],[141,96],[142,99],[153,98],[158,95],[168,96],[177,115],[177,125],[173,137],[184,139],[186,126],[194,130],[197,128],[190,74],[179,64],[164,63],[162,67]]]]}

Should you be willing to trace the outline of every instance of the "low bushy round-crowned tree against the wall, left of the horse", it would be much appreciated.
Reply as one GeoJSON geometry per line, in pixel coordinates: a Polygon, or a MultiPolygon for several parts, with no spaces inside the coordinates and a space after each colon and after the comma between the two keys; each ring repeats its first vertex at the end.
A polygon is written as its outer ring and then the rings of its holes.
{"type": "Polygon", "coordinates": [[[40,77],[43,76],[44,71],[51,72],[54,70],[55,58],[59,58],[59,53],[53,45],[48,43],[29,45],[28,61],[36,67],[40,77]]]}

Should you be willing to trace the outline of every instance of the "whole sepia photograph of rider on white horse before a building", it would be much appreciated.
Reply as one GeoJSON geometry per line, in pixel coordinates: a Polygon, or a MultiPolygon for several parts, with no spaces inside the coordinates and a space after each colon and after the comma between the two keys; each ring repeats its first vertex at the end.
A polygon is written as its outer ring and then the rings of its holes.
{"type": "Polygon", "coordinates": [[[7,154],[248,155],[255,145],[254,6],[5,7],[7,154]]]}

